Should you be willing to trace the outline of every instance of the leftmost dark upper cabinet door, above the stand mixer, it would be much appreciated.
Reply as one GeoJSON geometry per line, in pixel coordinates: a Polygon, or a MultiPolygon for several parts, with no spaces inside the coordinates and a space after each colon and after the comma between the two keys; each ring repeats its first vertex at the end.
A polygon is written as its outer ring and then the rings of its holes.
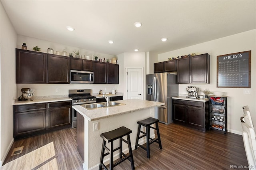
{"type": "Polygon", "coordinates": [[[16,83],[46,83],[46,53],[16,49],[16,83]]]}

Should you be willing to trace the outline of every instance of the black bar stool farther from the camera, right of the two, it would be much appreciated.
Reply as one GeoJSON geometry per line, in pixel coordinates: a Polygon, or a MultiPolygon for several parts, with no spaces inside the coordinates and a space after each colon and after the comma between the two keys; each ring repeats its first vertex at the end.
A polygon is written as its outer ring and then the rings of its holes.
{"type": "Polygon", "coordinates": [[[138,148],[138,146],[140,146],[142,149],[147,151],[147,157],[148,159],[150,158],[150,150],[149,150],[149,145],[152,144],[153,142],[157,142],[159,144],[159,149],[162,149],[162,144],[161,144],[161,139],[160,139],[160,133],[159,133],[159,128],[158,128],[158,119],[155,119],[153,117],[149,117],[147,119],[144,119],[142,121],[138,121],[137,123],[139,124],[138,126],[138,132],[137,132],[137,138],[136,138],[136,144],[135,144],[135,149],[138,148]],[[155,124],[156,128],[151,127],[150,125],[155,124]],[[146,127],[146,133],[140,130],[140,127],[144,126],[146,127]],[[156,139],[152,139],[150,138],[150,128],[153,128],[156,130],[157,132],[157,138],[156,139]],[[140,136],[140,133],[143,133],[142,136],[140,136]],[[144,136],[147,136],[147,148],[145,148],[144,146],[141,146],[140,144],[138,144],[139,139],[143,138],[144,136]],[[149,141],[151,140],[151,141],[149,141]]]}

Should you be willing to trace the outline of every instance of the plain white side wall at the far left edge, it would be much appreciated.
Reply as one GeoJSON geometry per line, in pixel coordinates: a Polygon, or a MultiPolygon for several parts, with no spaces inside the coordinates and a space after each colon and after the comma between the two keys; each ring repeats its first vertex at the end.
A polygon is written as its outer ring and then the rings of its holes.
{"type": "Polygon", "coordinates": [[[0,73],[1,73],[1,136],[0,166],[6,158],[12,137],[12,99],[17,95],[15,84],[16,32],[0,2],[0,73]]]}

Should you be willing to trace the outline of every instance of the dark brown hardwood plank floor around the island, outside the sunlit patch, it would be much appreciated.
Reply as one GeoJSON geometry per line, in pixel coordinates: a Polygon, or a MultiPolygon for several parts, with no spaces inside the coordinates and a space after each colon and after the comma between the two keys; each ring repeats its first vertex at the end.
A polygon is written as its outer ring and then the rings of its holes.
{"type": "MultiPolygon", "coordinates": [[[[137,170],[212,170],[230,166],[248,166],[242,136],[224,134],[216,130],[201,132],[178,124],[159,124],[162,150],[154,142],[150,145],[150,159],[142,148],[133,150],[137,170]]],[[[134,132],[133,132],[134,133],[134,132]]],[[[135,132],[136,133],[136,132],[135,132]]],[[[45,144],[54,141],[59,170],[82,170],[83,160],[76,150],[76,128],[67,128],[14,141],[12,148],[24,146],[21,154],[10,156],[10,162],[45,144]]],[[[114,169],[130,170],[128,160],[114,169]]]]}

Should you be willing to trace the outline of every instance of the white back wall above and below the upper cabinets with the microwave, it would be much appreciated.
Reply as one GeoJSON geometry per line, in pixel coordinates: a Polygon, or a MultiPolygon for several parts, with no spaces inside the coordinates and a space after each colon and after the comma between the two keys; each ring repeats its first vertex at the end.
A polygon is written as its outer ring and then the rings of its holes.
{"type": "MultiPolygon", "coordinates": [[[[111,59],[112,57],[115,57],[114,55],[108,55],[104,53],[98,53],[95,51],[89,51],[86,49],[78,49],[76,47],[54,43],[54,42],[48,42],[44,40],[39,40],[36,38],[30,38],[26,36],[20,36],[18,35],[18,40],[16,43],[16,48],[21,48],[22,43],[25,42],[27,44],[28,50],[32,50],[34,46],[38,46],[41,48],[40,52],[47,52],[47,48],[53,48],[54,54],[56,51],[62,52],[63,49],[65,49],[68,53],[73,53],[72,51],[79,50],[80,56],[81,55],[97,55],[99,58],[105,58],[105,59],[111,59]]],[[[15,51],[15,50],[14,50],[15,51]]],[[[15,62],[14,62],[15,63],[15,62]]],[[[96,85],[96,84],[17,84],[16,91],[18,92],[18,96],[20,96],[22,93],[20,92],[20,89],[22,88],[30,88],[34,89],[34,96],[47,96],[47,95],[67,95],[69,89],[92,89],[92,93],[98,93],[98,91],[101,89],[103,92],[111,92],[113,88],[116,88],[116,85],[96,85]],[[58,92],[56,92],[56,88],[58,89],[58,92]]],[[[122,92],[123,91],[118,91],[122,92]]]]}

